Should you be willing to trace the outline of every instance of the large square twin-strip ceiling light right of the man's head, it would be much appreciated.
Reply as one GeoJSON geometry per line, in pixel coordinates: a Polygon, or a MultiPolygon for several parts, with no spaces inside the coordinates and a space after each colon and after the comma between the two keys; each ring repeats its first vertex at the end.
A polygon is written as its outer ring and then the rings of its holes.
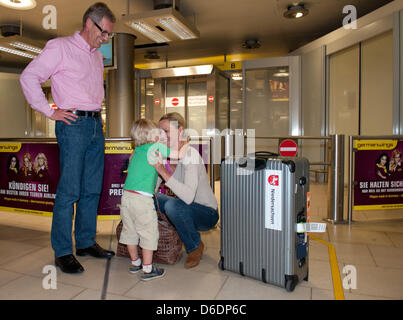
{"type": "Polygon", "coordinates": [[[123,17],[122,21],[157,43],[200,37],[196,27],[174,8],[132,14],[123,17]]]}

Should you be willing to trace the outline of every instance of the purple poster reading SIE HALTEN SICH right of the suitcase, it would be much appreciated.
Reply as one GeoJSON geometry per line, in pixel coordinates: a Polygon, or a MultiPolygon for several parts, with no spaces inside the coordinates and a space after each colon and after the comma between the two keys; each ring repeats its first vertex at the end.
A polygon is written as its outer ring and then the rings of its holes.
{"type": "Polygon", "coordinates": [[[403,208],[403,141],[356,140],[354,210],[403,208]]]}

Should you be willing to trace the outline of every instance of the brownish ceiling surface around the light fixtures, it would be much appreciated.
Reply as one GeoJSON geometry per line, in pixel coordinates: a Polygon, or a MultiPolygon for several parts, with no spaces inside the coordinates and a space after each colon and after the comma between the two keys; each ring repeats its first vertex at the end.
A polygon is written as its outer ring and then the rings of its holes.
{"type": "MultiPolygon", "coordinates": [[[[23,35],[29,39],[46,40],[56,36],[71,35],[80,30],[85,10],[95,0],[36,0],[36,8],[17,11],[0,6],[0,25],[20,24],[23,35]],[[45,5],[57,9],[57,29],[44,30],[42,20],[45,5]]],[[[127,0],[105,0],[105,3],[119,18],[127,13],[127,0]]],[[[248,54],[273,57],[282,56],[342,26],[343,7],[354,5],[361,17],[391,0],[306,0],[308,16],[299,20],[283,17],[288,5],[297,0],[181,0],[180,11],[190,21],[196,22],[200,39],[170,43],[158,49],[135,50],[135,63],[144,63],[147,51],[157,51],[161,57],[171,62],[203,57],[248,54]],[[259,49],[242,48],[246,39],[259,39],[259,49]]],[[[152,0],[129,0],[129,13],[153,10],[152,0]]],[[[134,32],[119,23],[115,31],[134,32]]],[[[150,44],[151,41],[136,34],[136,45],[150,44]]],[[[1,39],[0,39],[1,43],[1,39]]],[[[30,60],[0,53],[0,65],[22,67],[30,60]]]]}

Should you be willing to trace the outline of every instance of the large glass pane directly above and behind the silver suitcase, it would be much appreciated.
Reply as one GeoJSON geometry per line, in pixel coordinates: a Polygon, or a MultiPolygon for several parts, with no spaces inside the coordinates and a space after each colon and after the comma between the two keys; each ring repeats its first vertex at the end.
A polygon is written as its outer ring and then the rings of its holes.
{"type": "Polygon", "coordinates": [[[300,126],[299,57],[245,61],[244,125],[254,129],[256,150],[278,152],[276,139],[298,136],[300,126]]]}

